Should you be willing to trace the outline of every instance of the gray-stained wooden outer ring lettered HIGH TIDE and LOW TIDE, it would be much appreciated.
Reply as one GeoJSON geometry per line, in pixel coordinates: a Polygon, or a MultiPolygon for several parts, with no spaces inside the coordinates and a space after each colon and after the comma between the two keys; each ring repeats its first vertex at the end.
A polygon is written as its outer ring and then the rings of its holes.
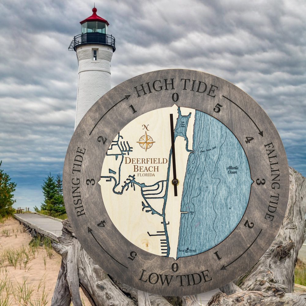
{"type": "Polygon", "coordinates": [[[63,193],[74,233],[95,263],[139,290],[185,296],[233,281],[269,248],[285,215],[289,168],[272,121],[244,91],[211,74],[169,69],[133,77],[91,107],[68,147],[63,193]],[[240,141],[254,181],[235,230],[214,248],[177,260],[145,252],[123,237],[106,212],[97,184],[106,151],[118,132],[136,117],[174,103],[225,124],[240,141]]]}

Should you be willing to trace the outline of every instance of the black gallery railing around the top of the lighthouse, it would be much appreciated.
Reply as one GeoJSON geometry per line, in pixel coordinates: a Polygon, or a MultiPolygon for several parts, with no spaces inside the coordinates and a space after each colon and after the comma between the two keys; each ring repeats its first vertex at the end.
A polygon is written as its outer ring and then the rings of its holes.
{"type": "Polygon", "coordinates": [[[77,46],[88,43],[98,43],[101,45],[107,45],[113,48],[113,52],[116,50],[114,36],[102,33],[85,33],[74,36],[68,49],[75,51],[77,46]]]}

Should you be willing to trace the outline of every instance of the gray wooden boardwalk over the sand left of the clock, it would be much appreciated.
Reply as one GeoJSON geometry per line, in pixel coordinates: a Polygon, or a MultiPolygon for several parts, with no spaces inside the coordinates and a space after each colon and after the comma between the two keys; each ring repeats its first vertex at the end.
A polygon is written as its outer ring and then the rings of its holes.
{"type": "Polygon", "coordinates": [[[62,220],[48,217],[41,214],[14,214],[14,217],[21,223],[26,224],[38,233],[58,241],[62,235],[62,220]]]}

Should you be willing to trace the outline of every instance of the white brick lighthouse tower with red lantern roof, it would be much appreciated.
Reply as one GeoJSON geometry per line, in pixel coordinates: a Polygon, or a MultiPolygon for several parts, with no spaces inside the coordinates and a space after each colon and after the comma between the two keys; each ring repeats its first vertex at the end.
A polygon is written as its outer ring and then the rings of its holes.
{"type": "Polygon", "coordinates": [[[108,34],[109,23],[97,15],[95,7],[80,24],[81,34],[69,46],[79,64],[75,129],[89,108],[110,90],[110,61],[116,50],[115,38],[108,34]]]}

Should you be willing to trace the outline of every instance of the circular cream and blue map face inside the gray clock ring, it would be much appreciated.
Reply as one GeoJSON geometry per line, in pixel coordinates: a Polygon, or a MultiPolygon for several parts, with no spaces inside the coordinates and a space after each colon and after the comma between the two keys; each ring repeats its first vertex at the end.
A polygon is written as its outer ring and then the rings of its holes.
{"type": "Polygon", "coordinates": [[[176,105],[126,125],[106,153],[99,181],[119,232],[144,251],[175,259],[226,239],[244,215],[252,183],[234,134],[214,117],[176,105]],[[171,185],[170,114],[179,152],[178,196],[171,185]],[[143,130],[143,139],[136,141],[143,130]]]}

